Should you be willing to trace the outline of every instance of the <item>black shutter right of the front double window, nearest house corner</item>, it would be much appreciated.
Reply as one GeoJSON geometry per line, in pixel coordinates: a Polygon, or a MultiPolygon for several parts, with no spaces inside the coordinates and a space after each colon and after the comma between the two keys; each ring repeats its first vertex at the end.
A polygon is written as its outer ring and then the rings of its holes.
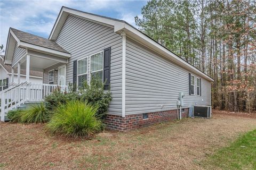
{"type": "Polygon", "coordinates": [[[110,88],[110,53],[111,47],[104,49],[103,80],[105,82],[105,90],[110,88]]]}

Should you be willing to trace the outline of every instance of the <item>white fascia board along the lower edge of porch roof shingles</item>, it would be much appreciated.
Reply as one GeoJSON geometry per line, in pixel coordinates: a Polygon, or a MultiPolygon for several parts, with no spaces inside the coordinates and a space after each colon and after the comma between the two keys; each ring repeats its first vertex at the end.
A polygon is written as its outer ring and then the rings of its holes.
{"type": "Polygon", "coordinates": [[[55,54],[55,55],[62,56],[62,57],[67,57],[67,58],[71,57],[71,55],[68,54],[68,53],[60,52],[58,50],[54,50],[54,49],[50,49],[50,48],[37,46],[37,45],[34,45],[34,44],[25,43],[25,42],[22,42],[22,41],[20,42],[19,47],[31,48],[31,49],[39,50],[41,52],[55,54]]]}

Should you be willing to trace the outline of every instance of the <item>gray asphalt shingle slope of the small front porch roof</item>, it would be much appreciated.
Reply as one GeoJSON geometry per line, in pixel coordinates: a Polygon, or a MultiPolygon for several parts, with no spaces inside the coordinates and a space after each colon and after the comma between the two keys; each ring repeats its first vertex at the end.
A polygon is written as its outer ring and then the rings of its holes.
{"type": "Polygon", "coordinates": [[[20,41],[23,41],[23,42],[29,43],[29,44],[34,44],[34,45],[41,46],[41,47],[45,47],[45,48],[54,49],[59,52],[69,54],[69,52],[67,52],[65,49],[63,49],[61,46],[59,46],[55,41],[52,41],[52,40],[49,40],[49,39],[46,39],[43,37],[39,37],[39,36],[33,35],[31,33],[23,32],[23,31],[14,29],[14,28],[11,28],[11,30],[20,41]]]}

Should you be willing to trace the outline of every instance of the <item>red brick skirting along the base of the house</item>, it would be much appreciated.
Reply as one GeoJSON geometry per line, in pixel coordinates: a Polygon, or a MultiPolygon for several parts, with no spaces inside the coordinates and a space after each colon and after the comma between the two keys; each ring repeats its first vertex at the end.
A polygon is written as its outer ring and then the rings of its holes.
{"type": "MultiPolygon", "coordinates": [[[[122,117],[108,114],[105,116],[104,122],[107,125],[107,129],[127,131],[158,122],[175,120],[178,118],[177,109],[171,111],[148,113],[147,119],[143,119],[142,115],[143,114],[134,114],[122,117]]],[[[182,117],[188,117],[188,108],[185,108],[185,112],[182,113],[182,117]]]]}

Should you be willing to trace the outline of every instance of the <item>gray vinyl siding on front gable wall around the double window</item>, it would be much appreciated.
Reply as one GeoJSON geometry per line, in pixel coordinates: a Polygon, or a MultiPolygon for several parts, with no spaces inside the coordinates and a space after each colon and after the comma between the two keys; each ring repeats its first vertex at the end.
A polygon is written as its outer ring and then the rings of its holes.
{"type": "Polygon", "coordinates": [[[69,15],[56,42],[71,53],[66,67],[66,84],[73,82],[73,62],[75,60],[89,57],[89,55],[111,47],[110,86],[113,99],[108,113],[121,115],[122,39],[114,32],[114,28],[69,15]]]}

